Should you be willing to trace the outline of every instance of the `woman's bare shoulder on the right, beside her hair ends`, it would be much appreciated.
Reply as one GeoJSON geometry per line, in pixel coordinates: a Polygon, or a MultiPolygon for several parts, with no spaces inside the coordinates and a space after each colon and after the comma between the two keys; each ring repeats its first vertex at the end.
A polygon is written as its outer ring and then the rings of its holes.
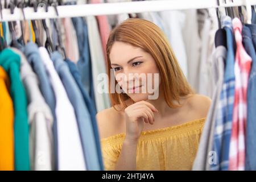
{"type": "Polygon", "coordinates": [[[189,110],[192,110],[197,115],[197,118],[205,118],[207,117],[211,102],[212,100],[207,96],[193,94],[193,96],[188,98],[188,107],[189,110]]]}

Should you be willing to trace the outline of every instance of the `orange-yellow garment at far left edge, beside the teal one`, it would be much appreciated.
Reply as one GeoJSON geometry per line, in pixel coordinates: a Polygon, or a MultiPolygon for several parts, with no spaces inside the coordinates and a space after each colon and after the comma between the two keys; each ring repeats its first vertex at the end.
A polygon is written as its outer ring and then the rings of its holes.
{"type": "Polygon", "coordinates": [[[0,171],[14,170],[14,110],[10,81],[0,67],[0,171]]]}

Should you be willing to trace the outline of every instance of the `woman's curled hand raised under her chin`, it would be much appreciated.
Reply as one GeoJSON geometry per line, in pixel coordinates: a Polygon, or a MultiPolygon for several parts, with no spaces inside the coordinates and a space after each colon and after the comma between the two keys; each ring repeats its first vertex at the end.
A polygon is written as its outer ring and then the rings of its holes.
{"type": "Polygon", "coordinates": [[[126,141],[138,142],[145,123],[154,124],[155,106],[146,101],[139,101],[125,109],[126,141]]]}

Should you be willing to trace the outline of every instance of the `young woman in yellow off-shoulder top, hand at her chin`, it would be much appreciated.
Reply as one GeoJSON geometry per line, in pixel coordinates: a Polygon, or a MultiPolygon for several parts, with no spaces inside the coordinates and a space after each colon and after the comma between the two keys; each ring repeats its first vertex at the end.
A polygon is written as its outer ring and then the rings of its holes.
{"type": "Polygon", "coordinates": [[[111,91],[113,107],[97,113],[105,169],[192,169],[210,99],[193,92],[160,28],[125,20],[110,33],[107,56],[109,91],[113,73],[123,93],[111,91]],[[134,73],[159,75],[154,93],[141,92],[150,79],[144,84],[143,77],[129,77],[134,73]]]}

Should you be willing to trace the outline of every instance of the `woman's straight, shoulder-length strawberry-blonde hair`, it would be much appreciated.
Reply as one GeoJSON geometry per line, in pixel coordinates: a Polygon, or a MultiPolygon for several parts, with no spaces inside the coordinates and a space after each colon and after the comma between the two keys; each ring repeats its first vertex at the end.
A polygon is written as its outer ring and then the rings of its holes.
{"type": "MultiPolygon", "coordinates": [[[[170,44],[163,31],[156,24],[139,18],[128,18],[110,32],[106,44],[107,69],[109,77],[109,97],[112,106],[121,105],[123,109],[127,107],[125,101],[129,98],[126,93],[111,93],[110,81],[110,58],[109,54],[115,41],[130,44],[142,48],[154,58],[158,65],[161,82],[163,84],[164,99],[168,106],[179,107],[173,103],[174,100],[180,100],[180,97],[193,94],[191,86],[188,84],[177,59],[172,51],[170,44]]],[[[117,85],[115,80],[115,86],[117,85]]]]}

